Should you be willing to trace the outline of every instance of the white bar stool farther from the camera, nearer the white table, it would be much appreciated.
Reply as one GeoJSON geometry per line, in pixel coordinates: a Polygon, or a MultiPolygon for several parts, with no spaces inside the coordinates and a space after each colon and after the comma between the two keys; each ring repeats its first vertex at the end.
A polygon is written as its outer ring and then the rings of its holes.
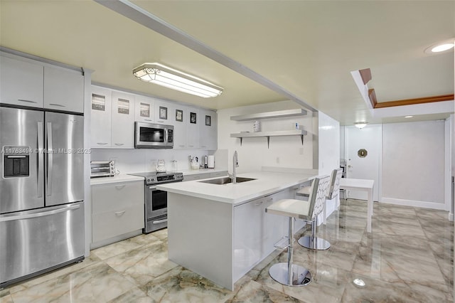
{"type": "MultiPolygon", "coordinates": [[[[329,181],[330,185],[328,186],[328,188],[326,188],[326,190],[328,189],[328,194],[324,198],[322,198],[321,201],[317,201],[317,203],[322,203],[321,208],[317,208],[317,211],[313,213],[310,218],[308,218],[308,221],[311,222],[311,235],[301,237],[298,241],[299,244],[304,248],[309,248],[311,250],[328,250],[328,248],[330,248],[330,242],[328,242],[328,240],[316,237],[318,215],[323,211],[324,217],[326,216],[326,198],[331,200],[338,196],[342,173],[343,173],[342,169],[333,169],[329,181]]],[[[314,198],[314,191],[316,190],[317,189],[313,186],[313,184],[311,184],[311,186],[301,188],[301,190],[296,193],[296,196],[308,197],[308,201],[311,201],[311,199],[314,198]]],[[[312,202],[316,203],[316,201],[312,202]]]]}

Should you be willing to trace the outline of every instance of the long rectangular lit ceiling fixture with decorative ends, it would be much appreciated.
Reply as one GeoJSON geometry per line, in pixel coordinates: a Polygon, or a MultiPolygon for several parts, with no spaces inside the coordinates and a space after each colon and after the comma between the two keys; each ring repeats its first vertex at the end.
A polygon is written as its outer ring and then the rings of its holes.
{"type": "Polygon", "coordinates": [[[155,83],[199,97],[217,97],[223,93],[223,87],[160,63],[144,63],[134,68],[133,75],[144,82],[155,83]]]}

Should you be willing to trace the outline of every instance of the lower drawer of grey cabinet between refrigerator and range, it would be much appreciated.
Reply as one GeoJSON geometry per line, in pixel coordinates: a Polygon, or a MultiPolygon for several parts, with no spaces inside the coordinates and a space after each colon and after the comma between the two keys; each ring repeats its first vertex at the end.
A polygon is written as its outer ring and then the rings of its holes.
{"type": "Polygon", "coordinates": [[[119,208],[92,215],[92,242],[144,228],[144,206],[119,208]]]}

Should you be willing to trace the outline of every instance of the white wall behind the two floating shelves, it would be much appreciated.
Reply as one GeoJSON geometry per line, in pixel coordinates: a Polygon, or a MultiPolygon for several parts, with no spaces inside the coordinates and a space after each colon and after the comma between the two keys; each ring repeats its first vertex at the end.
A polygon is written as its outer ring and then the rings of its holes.
{"type": "Polygon", "coordinates": [[[317,134],[317,129],[314,130],[312,124],[312,112],[301,117],[259,120],[262,131],[294,129],[295,122],[299,122],[308,132],[308,135],[304,136],[303,146],[299,136],[270,137],[269,149],[267,149],[267,138],[265,137],[243,139],[242,146],[240,146],[240,139],[230,137],[232,133],[252,132],[253,125],[253,121],[232,121],[231,116],[297,108],[301,107],[295,102],[282,101],[218,110],[218,149],[228,149],[229,171],[232,172],[232,155],[235,150],[239,155],[237,169],[239,173],[260,171],[262,166],[313,169],[313,139],[315,132],[317,134]]]}

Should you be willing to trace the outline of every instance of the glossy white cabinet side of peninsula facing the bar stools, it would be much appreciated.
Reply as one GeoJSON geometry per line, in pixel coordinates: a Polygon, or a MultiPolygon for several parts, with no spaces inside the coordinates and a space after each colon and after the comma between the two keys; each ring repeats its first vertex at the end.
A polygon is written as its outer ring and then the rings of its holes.
{"type": "Polygon", "coordinates": [[[267,257],[275,249],[274,243],[288,234],[288,217],[265,212],[284,198],[293,198],[290,188],[234,207],[234,281],[267,257]]]}

